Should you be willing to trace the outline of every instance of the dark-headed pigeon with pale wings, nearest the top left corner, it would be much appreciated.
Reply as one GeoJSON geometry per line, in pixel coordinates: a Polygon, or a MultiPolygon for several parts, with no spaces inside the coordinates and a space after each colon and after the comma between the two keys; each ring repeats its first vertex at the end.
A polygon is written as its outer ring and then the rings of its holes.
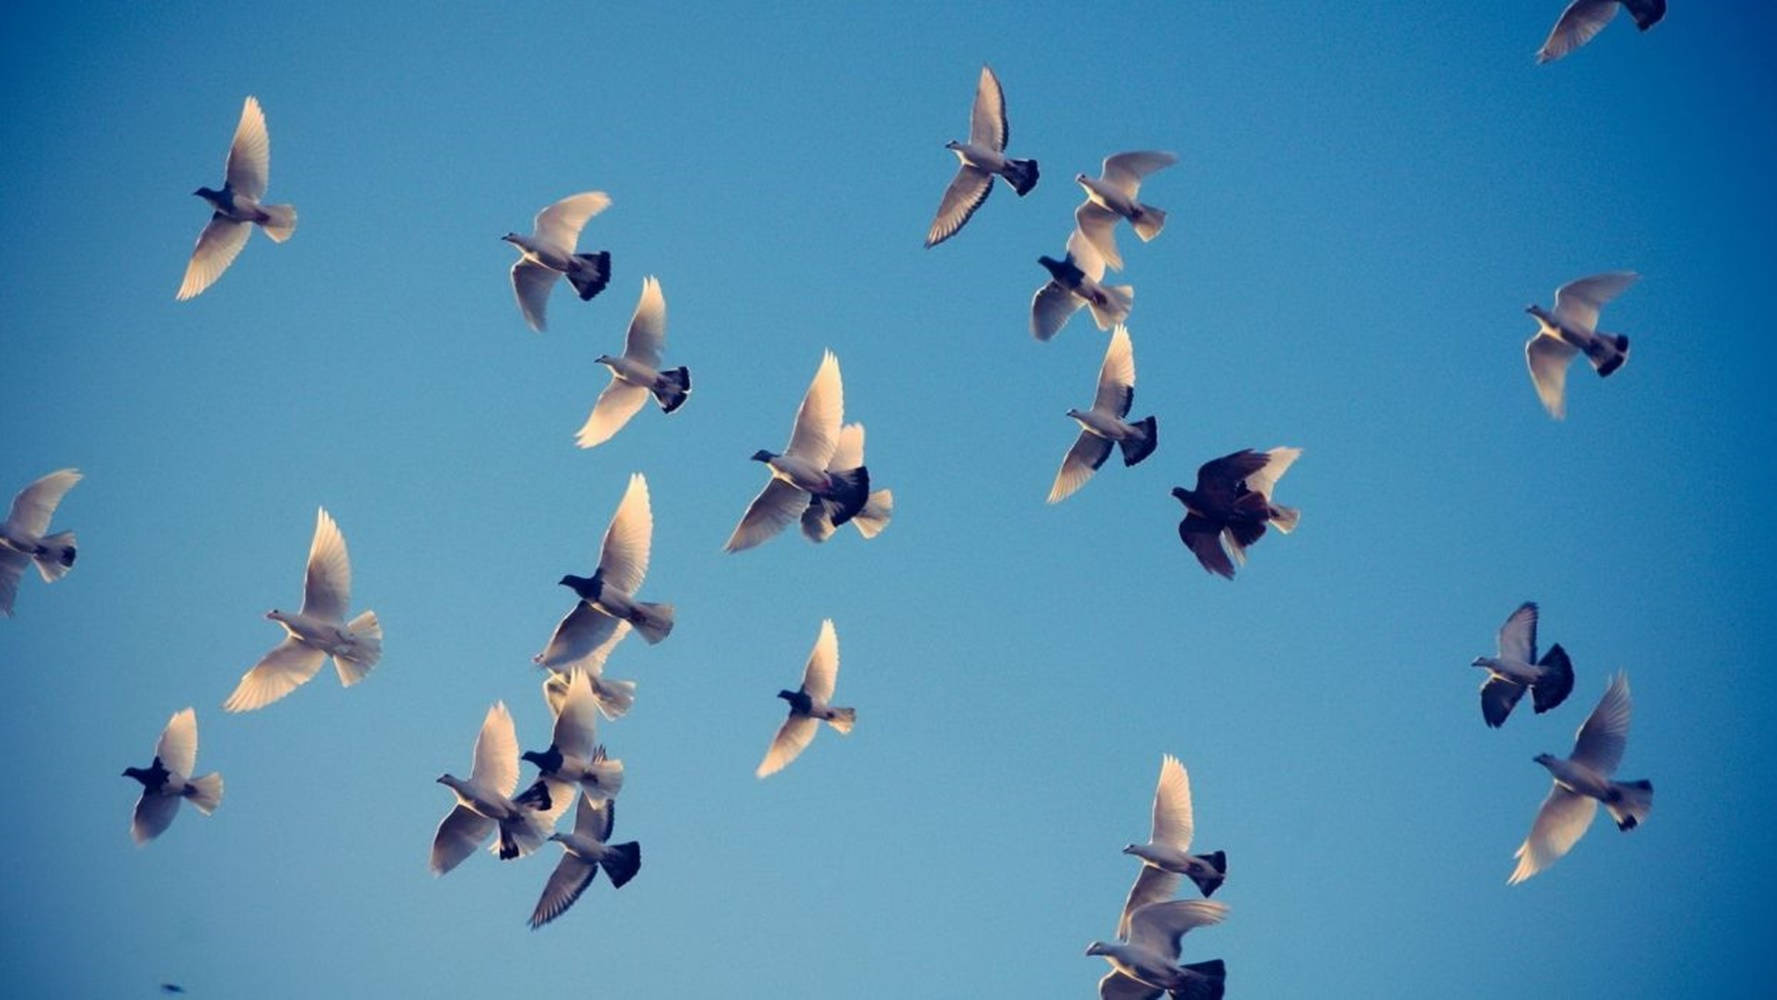
{"type": "Polygon", "coordinates": [[[265,131],[265,112],[259,110],[259,101],[247,98],[240,108],[240,124],[235,126],[235,142],[227,147],[222,190],[197,188],[192,192],[208,201],[215,211],[204,231],[197,234],[192,261],[185,265],[179,302],[197,297],[222,277],[240,249],[247,245],[254,226],[265,229],[274,243],[283,243],[297,231],[297,206],[259,204],[270,176],[272,137],[265,131]]]}

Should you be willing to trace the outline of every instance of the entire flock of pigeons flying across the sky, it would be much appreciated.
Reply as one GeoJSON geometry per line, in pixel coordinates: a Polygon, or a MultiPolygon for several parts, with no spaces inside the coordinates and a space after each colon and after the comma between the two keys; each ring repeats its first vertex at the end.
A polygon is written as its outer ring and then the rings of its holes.
{"type": "MultiPolygon", "coordinates": [[[[1576,0],[1560,16],[1537,60],[1560,59],[1590,41],[1619,5],[1630,9],[1642,30],[1665,14],[1663,0],[1576,0]]],[[[947,144],[960,165],[928,231],[928,247],[963,229],[986,202],[995,176],[1018,195],[1036,187],[1036,160],[1008,156],[1008,139],[1004,92],[993,71],[983,67],[968,140],[947,144]]],[[[1143,242],[1162,233],[1166,211],[1141,202],[1139,194],[1148,176],[1175,162],[1171,153],[1116,153],[1104,160],[1098,178],[1079,174],[1075,181],[1086,199],[1073,213],[1066,254],[1059,261],[1040,258],[1050,277],[1031,302],[1031,332],[1041,341],[1054,337],[1082,306],[1098,329],[1111,330],[1091,407],[1068,410],[1080,430],[1061,462],[1048,503],[1059,503],[1084,487],[1112,449],[1121,449],[1125,465],[1136,465],[1157,448],[1155,417],[1128,419],[1136,359],[1125,321],[1134,288],[1105,286],[1102,279],[1107,268],[1123,266],[1114,238],[1120,220],[1128,222],[1143,242]]],[[[265,114],[254,98],[247,98],[222,188],[195,192],[213,215],[197,238],[178,298],[192,298],[215,282],[240,254],[254,226],[274,242],[295,233],[295,208],[263,201],[268,165],[265,114]]],[[[581,300],[608,286],[611,254],[579,252],[578,242],[586,222],[610,202],[602,192],[576,194],[538,211],[531,234],[503,236],[521,254],[512,266],[512,288],[531,329],[546,329],[556,279],[565,277],[581,300]]],[[[1537,396],[1553,417],[1564,416],[1566,371],[1574,355],[1583,353],[1599,377],[1608,377],[1626,361],[1628,337],[1599,332],[1598,313],[1635,277],[1630,272],[1583,277],[1555,293],[1553,309],[1528,307],[1539,329],[1525,355],[1537,396]]],[[[665,414],[684,405],[691,375],[682,366],[661,368],[665,341],[666,300],[659,281],[647,277],[622,353],[597,359],[611,371],[611,380],[576,435],[581,448],[610,440],[650,398],[665,414]]],[[[1288,533],[1297,526],[1301,512],[1274,503],[1272,492],[1299,456],[1299,448],[1240,449],[1205,462],[1194,488],[1173,490],[1185,508],[1178,535],[1205,570],[1231,579],[1235,565],[1246,560],[1247,547],[1267,528],[1288,533]]],[[[752,458],[768,467],[769,478],[734,528],[725,545],[729,552],[759,545],[793,520],[801,522],[803,535],[812,542],[825,542],[846,522],[855,524],[864,538],[874,538],[892,517],[894,496],[871,490],[864,426],[844,423],[844,385],[832,352],[823,355],[801,398],[784,451],[761,449],[752,458]]],[[[0,613],[12,615],[27,567],[34,565],[46,583],[55,583],[75,565],[75,533],[50,533],[50,522],[78,481],[80,472],[62,469],[14,497],[0,524],[0,613]]],[[[569,574],[560,581],[574,593],[574,604],[535,657],[547,670],[544,700],[554,718],[549,746],[521,755],[512,714],[496,702],[476,735],[469,776],[439,776],[455,805],[432,842],[430,869],[435,874],[450,872],[489,840],[501,860],[521,858],[551,840],[562,845],[562,858],[530,917],[531,927],[565,913],[601,869],[620,888],[641,867],[636,842],[611,842],[624,764],[606,755],[597,739],[597,718],[618,719],[634,703],[634,682],[604,677],[613,647],[629,632],[640,634],[645,643],[659,643],[673,629],[672,604],[638,600],[652,531],[647,480],[633,474],[604,533],[592,575],[569,574]],[[522,792],[521,762],[537,767],[537,778],[522,792]],[[572,831],[556,833],[560,817],[576,803],[572,831]]],[[[222,707],[229,712],[263,709],[313,679],[329,657],[343,686],[368,677],[382,655],[382,627],[373,611],[348,618],[350,591],[345,535],[323,508],[316,513],[300,609],[267,613],[283,627],[284,638],[247,670],[222,707]]],[[[1487,671],[1480,705],[1489,726],[1502,726],[1525,691],[1539,714],[1557,709],[1573,691],[1574,671],[1566,650],[1553,645],[1537,655],[1537,615],[1535,604],[1519,606],[1500,629],[1498,655],[1473,661],[1487,671]]],[[[782,771],[803,753],[821,723],[841,734],[851,732],[857,710],[832,703],[837,675],[839,636],[833,622],[825,620],[800,687],[777,694],[789,710],[757,767],[759,778],[782,771]]],[[[1535,758],[1553,776],[1553,787],[1516,853],[1510,883],[1528,879],[1566,854],[1589,829],[1599,803],[1621,829],[1633,829],[1647,817],[1653,785],[1614,780],[1628,726],[1630,687],[1619,673],[1580,726],[1573,753],[1535,758]]],[[[203,813],[220,805],[220,774],[195,776],[195,766],[197,718],[187,707],[167,721],[153,762],[124,771],[142,785],[130,824],[137,842],[163,833],[181,801],[190,801],[203,813]]],[[[1116,940],[1095,941],[1086,952],[1111,964],[1098,984],[1102,998],[1151,1000],[1169,993],[1208,1000],[1223,995],[1226,972],[1221,959],[1180,964],[1182,936],[1194,927],[1219,924],[1228,913],[1224,902],[1208,899],[1226,879],[1226,854],[1192,854],[1192,833],[1191,783],[1183,764],[1167,755],[1155,789],[1150,840],[1123,849],[1141,861],[1141,869],[1123,906],[1116,940]],[[1191,879],[1203,899],[1175,899],[1183,879],[1191,879]]]]}

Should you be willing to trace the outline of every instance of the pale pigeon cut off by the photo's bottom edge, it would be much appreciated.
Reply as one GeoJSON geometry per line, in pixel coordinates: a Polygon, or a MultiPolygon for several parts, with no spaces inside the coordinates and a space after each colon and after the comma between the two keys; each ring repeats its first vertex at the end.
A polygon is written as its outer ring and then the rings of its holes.
{"type": "Polygon", "coordinates": [[[1221,959],[1178,964],[1178,940],[1192,927],[1221,924],[1228,917],[1226,902],[1208,899],[1175,899],[1150,902],[1128,920],[1128,940],[1093,941],[1088,956],[1111,963],[1111,972],[1098,980],[1100,1000],[1153,1000],[1160,993],[1175,998],[1219,1000],[1226,970],[1221,959]]]}

